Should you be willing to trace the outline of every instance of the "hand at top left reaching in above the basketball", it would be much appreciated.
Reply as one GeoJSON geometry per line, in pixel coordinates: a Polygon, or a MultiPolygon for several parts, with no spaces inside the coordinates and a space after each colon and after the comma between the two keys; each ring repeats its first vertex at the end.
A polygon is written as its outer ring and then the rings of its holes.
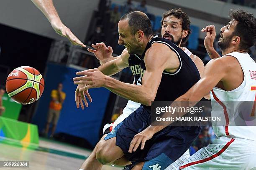
{"type": "Polygon", "coordinates": [[[66,37],[73,45],[85,47],[85,45],[61,22],[52,22],[52,28],[61,36],[66,37]]]}

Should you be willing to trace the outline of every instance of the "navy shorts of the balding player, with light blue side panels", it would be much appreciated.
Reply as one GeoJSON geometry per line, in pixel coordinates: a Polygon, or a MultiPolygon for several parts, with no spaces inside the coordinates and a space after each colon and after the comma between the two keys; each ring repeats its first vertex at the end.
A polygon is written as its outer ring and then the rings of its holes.
{"type": "Polygon", "coordinates": [[[201,130],[201,126],[167,126],[147,140],[143,150],[139,146],[136,152],[128,153],[134,135],[149,125],[151,125],[151,113],[140,106],[104,139],[116,137],[116,145],[123,150],[128,160],[134,165],[145,162],[143,170],[152,170],[154,166],[165,169],[188,150],[201,130]]]}

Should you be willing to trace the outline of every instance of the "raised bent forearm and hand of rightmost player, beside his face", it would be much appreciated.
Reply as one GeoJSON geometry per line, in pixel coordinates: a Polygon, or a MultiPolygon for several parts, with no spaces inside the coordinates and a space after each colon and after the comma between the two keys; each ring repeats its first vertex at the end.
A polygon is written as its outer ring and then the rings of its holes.
{"type": "Polygon", "coordinates": [[[220,55],[218,52],[214,49],[213,43],[216,37],[216,31],[214,25],[208,25],[205,28],[201,30],[202,32],[206,32],[204,45],[205,49],[208,52],[210,58],[218,58],[220,55]]]}

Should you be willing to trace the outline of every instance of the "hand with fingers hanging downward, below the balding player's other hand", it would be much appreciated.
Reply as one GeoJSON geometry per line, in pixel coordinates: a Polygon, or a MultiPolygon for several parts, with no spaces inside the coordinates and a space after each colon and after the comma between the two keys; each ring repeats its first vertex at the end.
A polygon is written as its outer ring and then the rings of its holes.
{"type": "Polygon", "coordinates": [[[85,98],[85,95],[89,99],[90,102],[92,102],[92,97],[90,96],[88,90],[79,92],[79,89],[84,87],[85,85],[77,85],[77,89],[75,91],[75,101],[77,104],[77,108],[79,108],[79,105],[81,105],[81,108],[84,110],[84,104],[86,107],[88,107],[87,99],[85,98]],[[84,101],[84,104],[83,104],[84,101]]]}

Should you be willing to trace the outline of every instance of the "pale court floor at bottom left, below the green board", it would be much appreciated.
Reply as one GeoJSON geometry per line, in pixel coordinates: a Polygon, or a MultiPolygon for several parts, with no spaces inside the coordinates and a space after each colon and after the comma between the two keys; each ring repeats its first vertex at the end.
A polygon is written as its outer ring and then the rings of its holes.
{"type": "MultiPolygon", "coordinates": [[[[29,168],[0,168],[0,170],[79,170],[84,159],[89,155],[89,150],[43,138],[39,147],[35,148],[20,145],[18,141],[0,140],[0,161],[29,161],[29,168]]],[[[121,169],[123,168],[110,165],[102,168],[102,170],[121,169]]]]}

